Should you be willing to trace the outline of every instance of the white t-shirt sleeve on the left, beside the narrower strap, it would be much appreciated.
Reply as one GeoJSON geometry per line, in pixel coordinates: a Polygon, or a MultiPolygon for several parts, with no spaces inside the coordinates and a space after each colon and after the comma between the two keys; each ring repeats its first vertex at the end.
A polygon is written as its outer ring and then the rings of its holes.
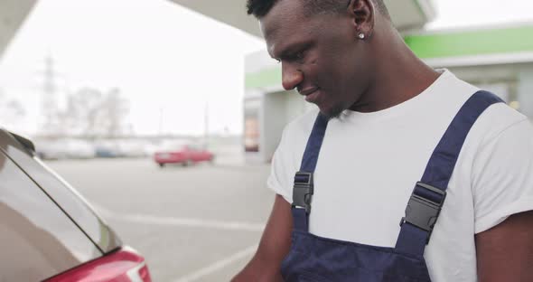
{"type": "Polygon", "coordinates": [[[291,167],[291,155],[289,155],[291,150],[287,147],[289,144],[286,131],[287,129],[285,128],[272,158],[270,175],[266,180],[266,186],[283,196],[287,202],[293,202],[293,187],[290,174],[294,171],[294,168],[291,167]]]}

